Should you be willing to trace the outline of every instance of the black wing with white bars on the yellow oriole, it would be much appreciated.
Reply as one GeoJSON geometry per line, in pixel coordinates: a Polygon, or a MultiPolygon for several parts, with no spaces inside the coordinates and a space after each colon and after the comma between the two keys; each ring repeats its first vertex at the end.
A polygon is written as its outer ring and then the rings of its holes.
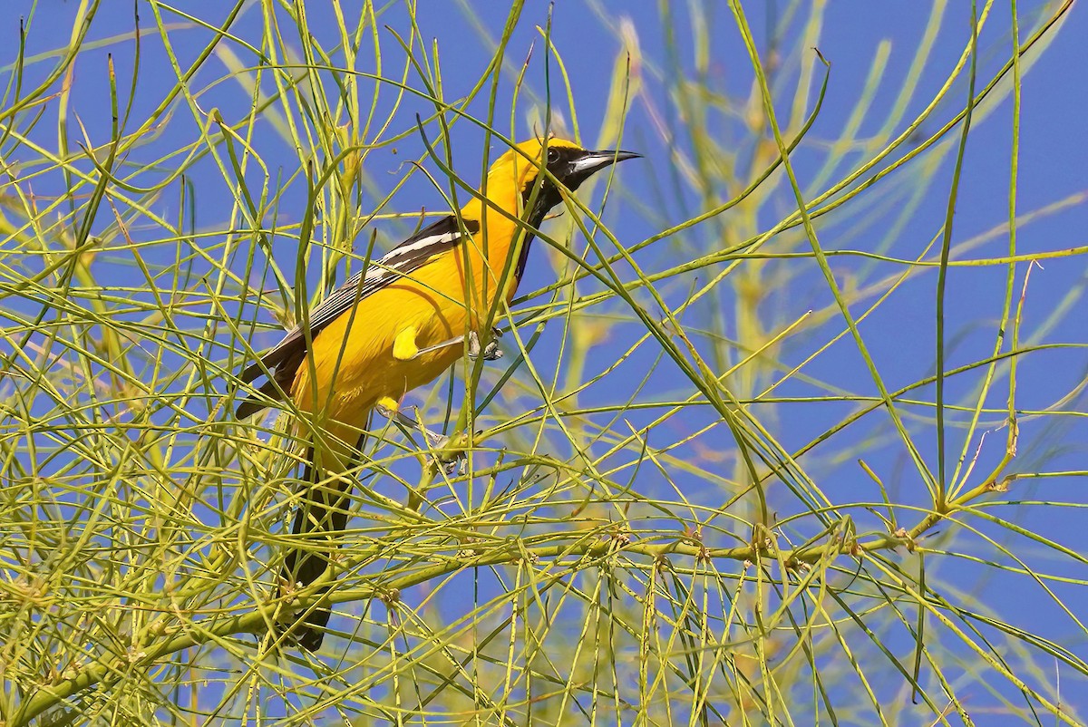
{"type": "MultiPolygon", "coordinates": [[[[366,271],[349,278],[310,311],[310,340],[312,341],[323,328],[350,310],[358,301],[421,268],[435,255],[456,247],[461,242],[461,225],[470,235],[480,231],[477,222],[461,220],[458,223],[457,218],[450,214],[420,230],[381,259],[371,260],[366,271]]],[[[265,371],[274,370],[273,378],[261,386],[260,391],[276,398],[277,390],[286,391],[283,384],[290,384],[304,358],[306,358],[306,333],[301,325],[296,325],[280,343],[261,356],[259,362],[251,364],[238,378],[244,382],[250,382],[260,378],[265,371]]],[[[249,397],[238,407],[238,417],[256,414],[264,406],[260,399],[249,397]]]]}

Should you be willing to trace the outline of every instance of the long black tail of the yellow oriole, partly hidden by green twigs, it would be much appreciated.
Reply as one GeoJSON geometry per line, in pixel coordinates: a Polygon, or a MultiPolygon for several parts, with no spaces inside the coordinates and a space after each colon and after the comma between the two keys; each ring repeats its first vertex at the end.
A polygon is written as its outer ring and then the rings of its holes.
{"type": "MultiPolygon", "coordinates": [[[[305,538],[305,543],[287,551],[281,576],[286,583],[305,588],[313,583],[329,568],[332,556],[339,547],[338,535],[347,526],[350,482],[344,478],[314,477],[321,471],[313,463],[313,449],[307,452],[302,471],[306,491],[295,512],[290,534],[305,538]]],[[[321,588],[325,593],[331,586],[321,588]]],[[[302,623],[292,629],[298,645],[317,651],[324,639],[325,626],[332,612],[327,607],[310,607],[302,615],[302,623]]]]}

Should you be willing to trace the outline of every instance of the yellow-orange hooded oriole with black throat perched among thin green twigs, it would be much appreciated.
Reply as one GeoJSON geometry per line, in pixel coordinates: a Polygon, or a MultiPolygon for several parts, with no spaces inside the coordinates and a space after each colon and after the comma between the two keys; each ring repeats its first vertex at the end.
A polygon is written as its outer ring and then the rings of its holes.
{"type": "MultiPolygon", "coordinates": [[[[502,281],[509,303],[526,270],[532,231],[562,200],[557,184],[574,190],[595,172],[638,156],[588,151],[558,138],[518,144],[492,164],[482,190],[458,214],[372,261],[313,308],[305,325],[296,325],[242,372],[244,382],[269,380],[242,403],[239,418],[268,406],[265,396],[283,395],[306,415],[298,426],[311,442],[307,460],[313,467],[304,472],[305,504],[295,515],[293,534],[327,537],[344,529],[347,485],[335,475],[350,468],[371,411],[395,411],[408,391],[460,358],[465,343],[478,343],[502,281]],[[544,168],[548,173],[542,176],[544,168]],[[333,477],[322,482],[325,478],[314,477],[321,471],[333,477]]],[[[292,550],[283,578],[305,587],[327,564],[329,555],[292,550]]],[[[294,629],[297,643],[318,649],[329,616],[325,608],[305,614],[305,623],[294,629]]]]}

